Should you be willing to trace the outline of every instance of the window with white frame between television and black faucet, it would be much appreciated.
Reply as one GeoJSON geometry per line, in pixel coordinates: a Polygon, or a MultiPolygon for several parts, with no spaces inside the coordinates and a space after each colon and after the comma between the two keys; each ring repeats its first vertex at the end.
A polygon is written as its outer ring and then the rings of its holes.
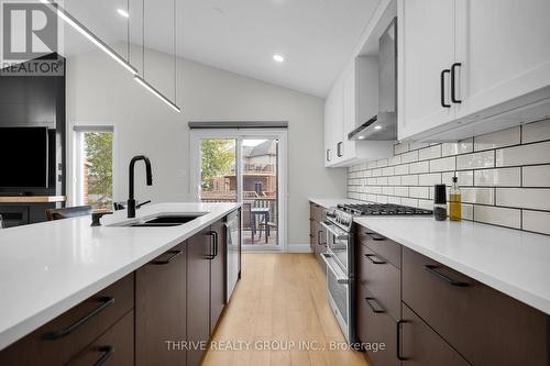
{"type": "Polygon", "coordinates": [[[76,206],[112,208],[112,127],[75,127],[76,206]]]}

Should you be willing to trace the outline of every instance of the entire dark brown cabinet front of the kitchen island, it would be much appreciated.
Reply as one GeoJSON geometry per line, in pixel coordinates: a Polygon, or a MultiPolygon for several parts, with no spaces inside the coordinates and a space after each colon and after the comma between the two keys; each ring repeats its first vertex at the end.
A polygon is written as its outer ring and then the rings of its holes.
{"type": "Polygon", "coordinates": [[[199,365],[226,306],[226,220],[0,351],[0,365],[199,365]]]}

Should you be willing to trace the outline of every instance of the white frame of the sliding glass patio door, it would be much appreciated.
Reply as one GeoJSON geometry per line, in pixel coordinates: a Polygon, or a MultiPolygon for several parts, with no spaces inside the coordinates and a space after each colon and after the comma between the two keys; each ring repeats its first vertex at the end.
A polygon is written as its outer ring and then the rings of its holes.
{"type": "MultiPolygon", "coordinates": [[[[200,189],[200,140],[204,138],[228,138],[237,140],[237,200],[242,202],[242,166],[241,153],[243,140],[277,140],[277,235],[278,244],[257,245],[251,247],[250,245],[242,245],[243,251],[265,252],[265,251],[288,251],[288,233],[287,233],[287,200],[288,200],[288,132],[287,129],[191,129],[189,132],[189,157],[190,157],[190,171],[189,171],[189,189],[188,195],[191,201],[199,201],[200,189]]],[[[241,228],[242,230],[242,228],[241,228]]],[[[242,235],[241,235],[242,241],[242,235]]]]}

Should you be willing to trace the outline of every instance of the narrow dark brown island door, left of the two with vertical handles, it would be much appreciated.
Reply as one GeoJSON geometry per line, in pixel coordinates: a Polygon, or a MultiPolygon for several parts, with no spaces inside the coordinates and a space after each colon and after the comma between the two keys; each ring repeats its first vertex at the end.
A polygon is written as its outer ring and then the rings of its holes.
{"type": "Polygon", "coordinates": [[[187,365],[199,365],[210,337],[210,228],[187,241],[187,365]]]}

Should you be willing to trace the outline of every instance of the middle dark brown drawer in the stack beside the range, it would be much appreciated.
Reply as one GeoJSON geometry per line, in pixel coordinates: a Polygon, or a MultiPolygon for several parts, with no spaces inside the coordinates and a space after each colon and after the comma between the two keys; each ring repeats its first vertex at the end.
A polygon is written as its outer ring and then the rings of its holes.
{"type": "Polygon", "coordinates": [[[402,315],[402,273],[387,259],[364,245],[359,245],[359,281],[376,298],[376,302],[395,320],[402,315]]]}

